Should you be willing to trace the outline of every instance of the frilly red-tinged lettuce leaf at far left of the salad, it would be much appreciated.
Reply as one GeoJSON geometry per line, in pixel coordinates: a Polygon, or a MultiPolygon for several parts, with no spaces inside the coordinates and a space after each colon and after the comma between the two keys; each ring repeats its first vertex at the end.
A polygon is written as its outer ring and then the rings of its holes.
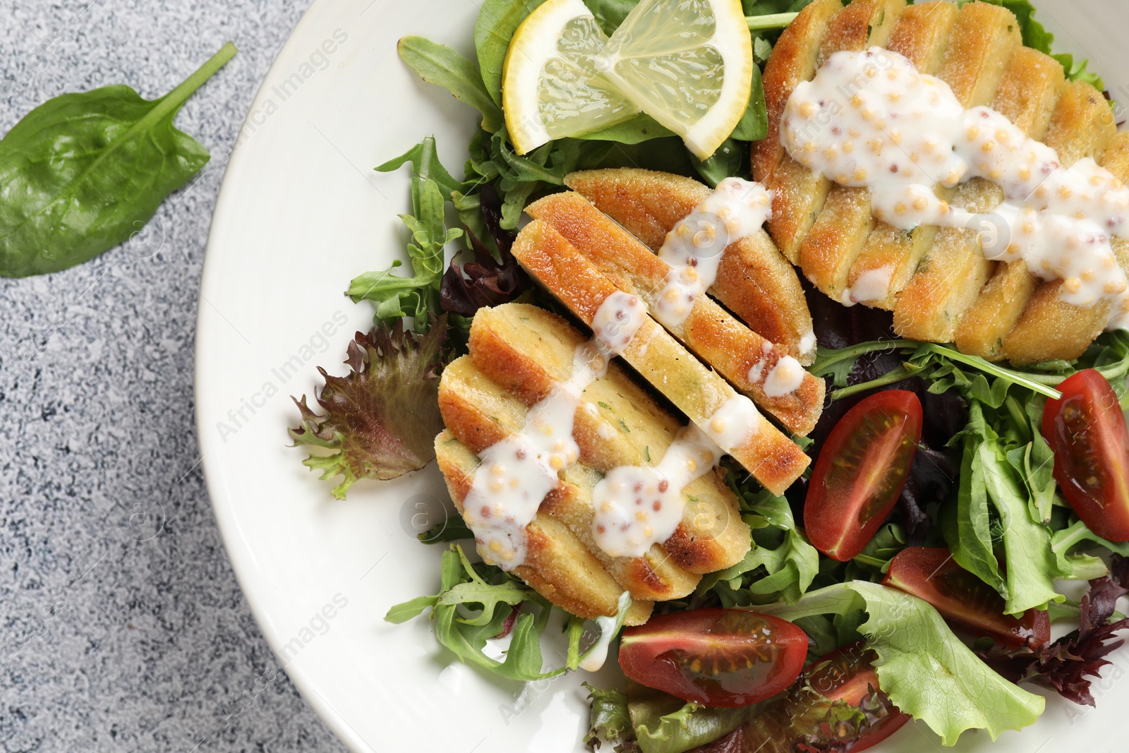
{"type": "Polygon", "coordinates": [[[395,479],[435,459],[435,436],[443,430],[439,417],[439,369],[447,339],[446,316],[427,334],[405,332],[402,322],[391,330],[357,333],[349,343],[344,377],[318,367],[325,386],[317,395],[324,413],[294,400],[301,426],[290,429],[295,446],[330,450],[312,454],[303,463],[322,471],[322,479],[342,476],[333,488],[336,499],[358,479],[395,479]]]}

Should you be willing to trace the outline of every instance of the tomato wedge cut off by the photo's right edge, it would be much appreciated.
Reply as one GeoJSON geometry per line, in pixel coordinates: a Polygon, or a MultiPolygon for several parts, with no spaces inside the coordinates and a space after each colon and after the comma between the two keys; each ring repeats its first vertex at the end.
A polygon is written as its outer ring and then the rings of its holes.
{"type": "Polygon", "coordinates": [[[1043,437],[1054,450],[1054,480],[1089,529],[1129,541],[1129,430],[1113,387],[1085,369],[1059,385],[1043,409],[1043,437]]]}

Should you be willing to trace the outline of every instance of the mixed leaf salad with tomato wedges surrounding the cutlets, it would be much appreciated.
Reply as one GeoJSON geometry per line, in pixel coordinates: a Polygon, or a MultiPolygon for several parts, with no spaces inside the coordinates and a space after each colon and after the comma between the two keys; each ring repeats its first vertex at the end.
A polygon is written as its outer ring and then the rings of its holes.
{"type": "MultiPolygon", "coordinates": [[[[584,0],[607,37],[637,1],[584,0]]],[[[541,5],[483,0],[475,60],[422,37],[400,42],[403,61],[476,108],[481,123],[462,180],[440,164],[431,137],[376,167],[411,167],[412,209],[402,216],[410,269],[395,261],[350,282],[352,299],[375,307],[375,329],[350,343],[348,376],[326,376],[313,409],[301,399],[290,431],[310,449],[307,466],[339,479],[336,498],[359,480],[434,459],[439,375],[466,352],[479,309],[523,301],[564,314],[511,253],[532,201],[589,168],[642,167],[710,186],[751,180],[751,143],[769,130],[760,68],[808,2],[743,3],[750,96],[706,158],[645,112],[518,154],[504,69],[515,32],[541,5]],[[447,259],[452,244],[460,249],[447,259]]],[[[1015,14],[1024,44],[1051,52],[1027,0],[994,5],[1015,14]]],[[[1085,61],[1054,56],[1068,79],[1102,89],[1085,61]]],[[[829,400],[815,430],[793,438],[813,466],[776,496],[724,461],[752,532],[747,554],[690,596],[656,602],[644,625],[622,629],[625,593],[618,615],[601,618],[602,634],[620,636],[629,680],[589,686],[593,748],[846,752],[909,718],[953,745],[966,730],[995,739],[1033,724],[1044,699],[1025,684],[1094,704],[1089,681],[1129,627],[1114,608],[1129,593],[1129,332],[1102,334],[1077,360],[1021,370],[899,339],[889,312],[843,308],[817,292],[808,304],[819,339],[808,371],[826,379],[829,400]],[[851,515],[865,535],[843,533],[851,515]],[[1089,581],[1088,593],[1068,598],[1067,580],[1089,581]],[[1051,640],[1051,624],[1065,634],[1051,640]]],[[[597,665],[607,645],[586,638],[592,623],[478,561],[473,539],[457,516],[421,534],[444,548],[436,590],[386,620],[427,614],[453,658],[510,680],[597,665]],[[543,641],[562,624],[563,663],[549,665],[543,641]]]]}

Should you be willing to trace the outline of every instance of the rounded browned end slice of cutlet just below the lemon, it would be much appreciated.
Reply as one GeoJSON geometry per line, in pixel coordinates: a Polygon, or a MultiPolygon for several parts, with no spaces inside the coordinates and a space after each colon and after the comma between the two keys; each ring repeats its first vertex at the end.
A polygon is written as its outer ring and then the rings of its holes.
{"type": "MultiPolygon", "coordinates": [[[[636,168],[572,173],[564,184],[651,251],[662,248],[675,224],[710,195],[693,178],[636,168]]],[[[796,268],[763,229],[729,244],[709,292],[753,332],[786,348],[800,364],[815,359],[812,313],[796,268]]]]}

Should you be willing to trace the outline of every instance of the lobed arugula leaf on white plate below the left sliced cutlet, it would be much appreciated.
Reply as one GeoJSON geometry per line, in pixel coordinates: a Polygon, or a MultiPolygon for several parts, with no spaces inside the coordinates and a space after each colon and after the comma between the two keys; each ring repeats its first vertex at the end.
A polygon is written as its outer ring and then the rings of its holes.
{"type": "MultiPolygon", "coordinates": [[[[435,621],[435,637],[460,660],[473,664],[510,680],[544,680],[580,666],[599,650],[599,643],[580,654],[584,620],[568,622],[568,649],[564,664],[542,672],[541,636],[549,627],[552,607],[535,590],[488,564],[473,564],[458,544],[443,553],[440,590],[434,596],[413,598],[388,610],[385,620],[403,622],[428,606],[435,621]],[[523,611],[514,621],[515,607],[523,611]],[[470,615],[470,616],[467,616],[470,615]],[[511,630],[509,630],[511,628],[511,630]],[[511,632],[506,658],[501,662],[484,651],[487,641],[511,632]]],[[[620,596],[614,621],[605,629],[619,632],[631,606],[631,596],[620,596]]]]}

